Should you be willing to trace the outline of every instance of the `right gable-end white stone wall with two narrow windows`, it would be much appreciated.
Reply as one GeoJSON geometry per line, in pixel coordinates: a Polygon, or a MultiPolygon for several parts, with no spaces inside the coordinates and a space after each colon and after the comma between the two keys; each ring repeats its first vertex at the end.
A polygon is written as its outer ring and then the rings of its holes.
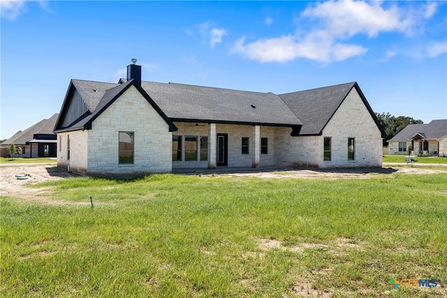
{"type": "Polygon", "coordinates": [[[323,129],[318,142],[321,152],[318,166],[356,167],[382,166],[382,137],[372,116],[355,89],[349,92],[342,105],[323,129]],[[323,160],[323,138],[331,137],[331,160],[323,160]],[[355,159],[348,160],[348,139],[355,139],[355,159]]]}

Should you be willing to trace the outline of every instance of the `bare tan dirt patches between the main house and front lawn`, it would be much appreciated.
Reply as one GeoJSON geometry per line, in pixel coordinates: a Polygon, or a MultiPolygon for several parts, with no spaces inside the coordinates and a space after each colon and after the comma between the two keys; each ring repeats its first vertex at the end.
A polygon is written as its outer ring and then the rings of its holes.
{"type": "MultiPolygon", "coordinates": [[[[368,178],[374,173],[445,173],[446,171],[436,169],[418,169],[416,167],[382,168],[382,169],[328,169],[309,170],[293,169],[284,171],[233,171],[232,173],[221,173],[218,175],[234,177],[260,177],[260,178],[316,178],[323,180],[334,180],[341,178],[368,178]]],[[[205,175],[210,177],[216,174],[205,175]]],[[[47,180],[59,180],[68,177],[77,177],[75,173],[68,173],[66,169],[50,164],[0,166],[0,194],[8,197],[18,197],[36,201],[45,201],[49,204],[68,204],[66,201],[54,201],[46,199],[50,190],[44,187],[24,187],[24,185],[41,183],[47,180]],[[26,176],[27,179],[17,179],[16,175],[26,176]]]]}

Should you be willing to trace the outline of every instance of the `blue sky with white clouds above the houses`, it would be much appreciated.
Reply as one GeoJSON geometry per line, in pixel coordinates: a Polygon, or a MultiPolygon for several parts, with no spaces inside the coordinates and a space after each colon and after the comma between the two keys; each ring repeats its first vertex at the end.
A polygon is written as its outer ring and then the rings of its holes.
{"type": "Polygon", "coordinates": [[[446,1],[0,1],[1,134],[71,78],[276,94],[357,81],[375,112],[447,118],[446,1]]]}

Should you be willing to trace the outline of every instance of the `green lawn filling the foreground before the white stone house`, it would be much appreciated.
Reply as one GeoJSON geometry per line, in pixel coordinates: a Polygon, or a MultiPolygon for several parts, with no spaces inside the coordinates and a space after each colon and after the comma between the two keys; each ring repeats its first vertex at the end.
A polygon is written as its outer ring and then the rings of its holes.
{"type": "Polygon", "coordinates": [[[445,297],[446,185],[447,173],[51,181],[45,199],[66,204],[1,197],[0,295],[445,297]]]}

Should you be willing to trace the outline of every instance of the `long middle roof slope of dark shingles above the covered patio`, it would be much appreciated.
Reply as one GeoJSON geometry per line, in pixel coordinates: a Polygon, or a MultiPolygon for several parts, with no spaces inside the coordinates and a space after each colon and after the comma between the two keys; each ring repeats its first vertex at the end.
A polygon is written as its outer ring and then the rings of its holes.
{"type": "Polygon", "coordinates": [[[228,90],[177,83],[142,82],[142,87],[174,121],[301,125],[273,93],[228,90]]]}

